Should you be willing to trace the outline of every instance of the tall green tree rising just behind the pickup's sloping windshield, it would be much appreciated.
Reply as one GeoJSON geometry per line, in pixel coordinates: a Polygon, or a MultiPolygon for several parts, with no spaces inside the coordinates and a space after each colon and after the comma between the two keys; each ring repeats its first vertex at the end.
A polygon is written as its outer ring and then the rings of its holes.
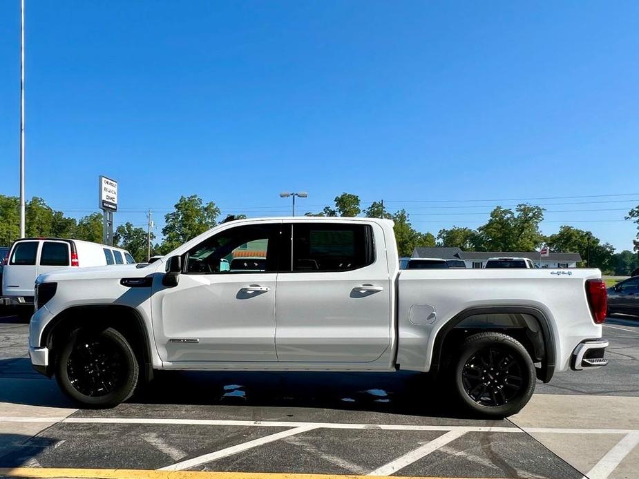
{"type": "Polygon", "coordinates": [[[204,204],[198,195],[180,197],[175,210],[164,216],[166,225],[162,228],[162,252],[169,253],[180,244],[213,228],[219,215],[220,208],[215,203],[204,204]]]}

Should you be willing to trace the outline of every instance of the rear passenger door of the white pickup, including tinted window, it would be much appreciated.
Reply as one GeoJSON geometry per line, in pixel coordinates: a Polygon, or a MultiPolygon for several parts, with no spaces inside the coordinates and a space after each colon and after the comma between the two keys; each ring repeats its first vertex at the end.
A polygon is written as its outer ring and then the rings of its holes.
{"type": "Polygon", "coordinates": [[[390,351],[383,231],[363,222],[285,224],[276,298],[280,362],[372,362],[390,351]],[[290,249],[292,247],[292,251],[290,249]]]}

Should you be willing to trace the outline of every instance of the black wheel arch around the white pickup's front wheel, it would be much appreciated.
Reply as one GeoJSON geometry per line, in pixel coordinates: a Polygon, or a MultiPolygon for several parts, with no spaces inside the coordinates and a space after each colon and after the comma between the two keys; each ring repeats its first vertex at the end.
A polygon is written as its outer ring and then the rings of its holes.
{"type": "Polygon", "coordinates": [[[131,342],[133,351],[140,363],[142,378],[146,381],[153,378],[153,360],[151,359],[151,343],[149,330],[144,318],[135,308],[120,304],[92,304],[72,306],[55,315],[48,322],[40,335],[40,346],[49,349],[50,361],[46,375],[53,375],[57,351],[55,343],[61,336],[77,327],[113,327],[124,338],[131,342]],[[92,315],[87,320],[86,315],[92,315]]]}

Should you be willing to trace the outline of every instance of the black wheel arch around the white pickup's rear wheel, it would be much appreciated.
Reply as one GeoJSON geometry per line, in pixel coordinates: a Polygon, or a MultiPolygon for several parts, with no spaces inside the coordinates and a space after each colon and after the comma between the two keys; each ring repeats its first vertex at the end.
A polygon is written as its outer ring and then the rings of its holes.
{"type": "MultiPolygon", "coordinates": [[[[533,346],[542,346],[543,358],[542,366],[537,371],[537,378],[543,382],[549,382],[555,372],[555,335],[553,334],[553,328],[549,317],[541,309],[533,306],[519,306],[519,305],[500,305],[500,306],[477,306],[465,309],[460,313],[457,313],[452,319],[450,319],[444,326],[437,331],[435,336],[435,342],[433,344],[432,360],[430,364],[430,371],[432,373],[439,373],[442,363],[444,362],[445,344],[446,339],[450,338],[450,334],[455,329],[459,329],[461,323],[468,318],[475,315],[497,315],[497,314],[522,314],[530,315],[539,325],[539,331],[541,332],[541,344],[534,344],[533,346]]],[[[500,329],[502,325],[495,325],[487,323],[484,326],[475,326],[474,329],[478,331],[486,331],[491,329],[500,329]]]]}

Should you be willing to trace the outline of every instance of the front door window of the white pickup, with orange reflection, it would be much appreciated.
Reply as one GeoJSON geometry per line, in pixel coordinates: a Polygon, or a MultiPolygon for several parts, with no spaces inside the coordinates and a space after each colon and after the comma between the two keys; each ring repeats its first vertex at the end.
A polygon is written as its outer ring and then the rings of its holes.
{"type": "Polygon", "coordinates": [[[230,228],[187,253],[186,273],[232,274],[278,271],[280,224],[230,228]]]}

